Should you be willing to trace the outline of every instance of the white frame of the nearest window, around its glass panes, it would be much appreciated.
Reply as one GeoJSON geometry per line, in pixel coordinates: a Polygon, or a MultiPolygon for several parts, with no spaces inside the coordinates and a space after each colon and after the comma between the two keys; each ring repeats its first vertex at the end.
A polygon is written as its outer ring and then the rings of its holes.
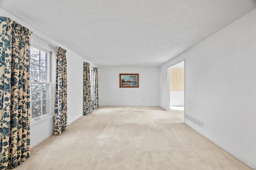
{"type": "MultiPolygon", "coordinates": [[[[53,105],[53,74],[52,74],[52,63],[53,63],[53,53],[52,53],[52,49],[46,49],[44,47],[42,47],[42,45],[37,45],[36,43],[31,43],[30,45],[30,48],[33,47],[33,48],[36,48],[40,51],[43,51],[45,53],[48,53],[48,59],[47,59],[47,67],[48,67],[48,72],[47,72],[47,81],[46,82],[40,82],[39,81],[32,81],[30,80],[30,123],[34,123],[34,122],[37,122],[37,121],[40,121],[44,118],[47,118],[47,117],[50,117],[54,114],[54,105],[53,105]],[[45,114],[45,115],[41,115],[41,116],[38,116],[38,117],[34,117],[32,118],[31,117],[31,113],[32,113],[32,84],[49,84],[49,93],[47,94],[49,96],[49,113],[45,114]]],[[[34,64],[36,65],[36,64],[34,64]]],[[[46,98],[47,99],[47,98],[46,98]]],[[[41,100],[42,101],[42,98],[41,100]]],[[[42,104],[42,103],[41,103],[42,104]]],[[[42,108],[42,106],[41,106],[42,108]]]]}

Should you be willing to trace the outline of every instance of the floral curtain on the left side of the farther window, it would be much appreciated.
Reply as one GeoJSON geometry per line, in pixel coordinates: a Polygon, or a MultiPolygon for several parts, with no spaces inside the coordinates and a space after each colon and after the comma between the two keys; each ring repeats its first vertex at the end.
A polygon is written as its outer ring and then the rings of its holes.
{"type": "Polygon", "coordinates": [[[92,114],[92,91],[90,78],[90,64],[84,62],[84,107],[83,115],[92,114]]]}

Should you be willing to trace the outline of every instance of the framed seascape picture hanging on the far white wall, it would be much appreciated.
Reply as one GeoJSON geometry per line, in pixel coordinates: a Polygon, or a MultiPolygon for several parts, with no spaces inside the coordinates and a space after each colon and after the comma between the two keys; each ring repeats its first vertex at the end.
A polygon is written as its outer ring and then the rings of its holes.
{"type": "Polygon", "coordinates": [[[119,87],[138,88],[139,74],[119,74],[119,87]]]}

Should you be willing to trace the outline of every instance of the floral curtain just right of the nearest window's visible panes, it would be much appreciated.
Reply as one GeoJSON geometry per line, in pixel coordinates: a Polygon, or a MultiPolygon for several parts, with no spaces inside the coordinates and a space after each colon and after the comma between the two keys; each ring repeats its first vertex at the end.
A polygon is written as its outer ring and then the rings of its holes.
{"type": "Polygon", "coordinates": [[[66,50],[56,50],[56,90],[54,107],[54,135],[67,130],[67,61],[66,50]]]}

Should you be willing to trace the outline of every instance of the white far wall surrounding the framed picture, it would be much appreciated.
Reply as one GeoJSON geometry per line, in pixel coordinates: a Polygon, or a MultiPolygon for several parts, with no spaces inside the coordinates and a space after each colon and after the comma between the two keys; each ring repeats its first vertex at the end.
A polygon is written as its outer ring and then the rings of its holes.
{"type": "Polygon", "coordinates": [[[159,75],[160,67],[100,67],[99,105],[160,106],[159,75]],[[120,73],[139,73],[139,88],[119,88],[120,73]]]}

